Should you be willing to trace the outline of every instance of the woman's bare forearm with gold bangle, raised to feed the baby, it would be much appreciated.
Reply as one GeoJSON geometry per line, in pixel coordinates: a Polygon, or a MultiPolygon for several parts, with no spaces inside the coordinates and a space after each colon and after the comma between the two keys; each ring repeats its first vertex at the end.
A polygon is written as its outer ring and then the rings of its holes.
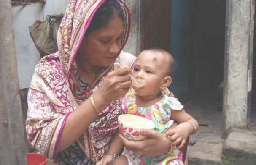
{"type": "MultiPolygon", "coordinates": [[[[97,92],[93,94],[93,99],[97,109],[100,111],[108,105],[108,102],[105,102],[100,95],[97,95],[97,92]]],[[[70,113],[60,137],[59,152],[77,141],[98,115],[99,113],[94,109],[90,98],[70,113]]]]}

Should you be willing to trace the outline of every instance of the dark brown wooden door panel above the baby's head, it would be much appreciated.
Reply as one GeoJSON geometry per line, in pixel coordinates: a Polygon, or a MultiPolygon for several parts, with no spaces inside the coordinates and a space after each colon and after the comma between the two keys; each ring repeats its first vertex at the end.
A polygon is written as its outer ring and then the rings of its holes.
{"type": "Polygon", "coordinates": [[[140,50],[158,47],[170,51],[171,0],[140,0],[140,50]]]}

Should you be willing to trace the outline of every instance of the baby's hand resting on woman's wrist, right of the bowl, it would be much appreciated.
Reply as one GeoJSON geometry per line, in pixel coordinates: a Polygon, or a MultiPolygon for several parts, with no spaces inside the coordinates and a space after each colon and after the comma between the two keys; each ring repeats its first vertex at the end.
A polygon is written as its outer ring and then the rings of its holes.
{"type": "Polygon", "coordinates": [[[191,126],[188,123],[181,123],[175,128],[166,131],[166,135],[169,136],[170,141],[174,146],[180,144],[178,149],[181,149],[186,143],[186,139],[191,131],[191,126]]]}

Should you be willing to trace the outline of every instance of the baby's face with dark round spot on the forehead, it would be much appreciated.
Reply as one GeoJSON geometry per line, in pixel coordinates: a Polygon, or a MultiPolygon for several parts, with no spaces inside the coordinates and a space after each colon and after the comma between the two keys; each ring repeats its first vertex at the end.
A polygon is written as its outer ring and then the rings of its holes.
{"type": "Polygon", "coordinates": [[[137,58],[132,76],[143,88],[135,89],[140,96],[159,94],[167,73],[167,58],[161,53],[143,51],[137,58]]]}

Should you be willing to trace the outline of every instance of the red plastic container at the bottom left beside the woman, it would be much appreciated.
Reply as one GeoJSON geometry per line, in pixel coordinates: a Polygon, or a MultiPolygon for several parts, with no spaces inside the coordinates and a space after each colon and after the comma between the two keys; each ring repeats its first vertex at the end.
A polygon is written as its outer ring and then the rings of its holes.
{"type": "Polygon", "coordinates": [[[47,158],[37,153],[27,153],[27,165],[46,165],[47,158]]]}

